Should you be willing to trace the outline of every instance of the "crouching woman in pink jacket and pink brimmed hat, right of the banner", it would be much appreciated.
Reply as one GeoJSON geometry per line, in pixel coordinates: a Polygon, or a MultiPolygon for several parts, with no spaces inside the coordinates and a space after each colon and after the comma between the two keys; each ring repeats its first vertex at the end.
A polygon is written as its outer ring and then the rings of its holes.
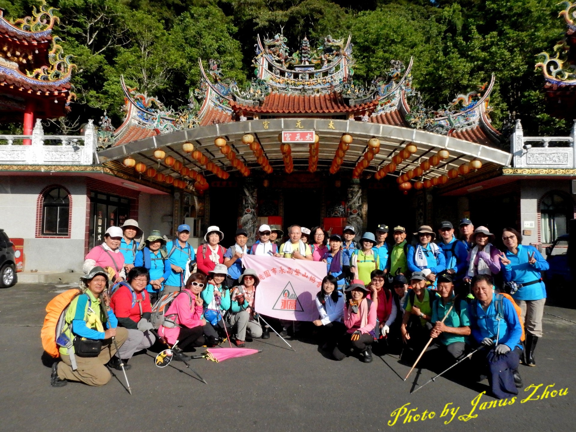
{"type": "Polygon", "coordinates": [[[350,352],[350,348],[353,348],[364,363],[370,363],[370,345],[374,342],[377,304],[376,301],[366,298],[370,290],[361,283],[353,283],[346,291],[351,291],[351,298],[344,305],[344,325],[347,330],[340,337],[332,356],[336,360],[342,360],[350,352]]]}

